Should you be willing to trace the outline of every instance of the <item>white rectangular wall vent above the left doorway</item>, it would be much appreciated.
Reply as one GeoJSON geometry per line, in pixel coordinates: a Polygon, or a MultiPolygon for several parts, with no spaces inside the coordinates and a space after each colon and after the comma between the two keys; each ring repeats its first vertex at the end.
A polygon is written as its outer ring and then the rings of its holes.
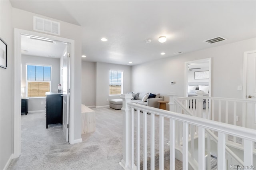
{"type": "Polygon", "coordinates": [[[34,30],[60,35],[60,23],[34,16],[34,30]]]}

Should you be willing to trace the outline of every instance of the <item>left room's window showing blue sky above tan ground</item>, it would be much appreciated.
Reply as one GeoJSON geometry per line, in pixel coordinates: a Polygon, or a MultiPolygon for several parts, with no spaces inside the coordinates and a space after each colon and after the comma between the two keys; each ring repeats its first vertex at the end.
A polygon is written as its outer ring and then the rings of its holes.
{"type": "Polygon", "coordinates": [[[26,97],[45,97],[51,91],[51,66],[26,65],[26,97]]]}

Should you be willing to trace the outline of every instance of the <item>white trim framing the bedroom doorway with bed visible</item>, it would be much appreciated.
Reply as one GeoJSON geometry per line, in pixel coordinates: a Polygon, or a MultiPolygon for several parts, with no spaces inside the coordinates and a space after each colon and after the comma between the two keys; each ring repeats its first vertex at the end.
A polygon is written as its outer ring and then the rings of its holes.
{"type": "Polygon", "coordinates": [[[211,85],[212,85],[212,58],[205,58],[205,59],[198,59],[193,61],[186,61],[185,62],[185,85],[184,85],[184,96],[187,97],[188,95],[188,64],[189,63],[198,63],[202,61],[209,62],[209,97],[211,96],[211,85]]]}

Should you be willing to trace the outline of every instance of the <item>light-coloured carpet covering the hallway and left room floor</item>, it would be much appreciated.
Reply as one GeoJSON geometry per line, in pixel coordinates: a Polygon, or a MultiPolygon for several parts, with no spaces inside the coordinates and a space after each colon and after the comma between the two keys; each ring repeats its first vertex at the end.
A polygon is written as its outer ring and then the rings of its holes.
{"type": "MultiPolygon", "coordinates": [[[[122,111],[111,108],[93,110],[96,111],[96,131],[82,135],[83,142],[72,145],[65,142],[61,124],[49,125],[46,129],[45,113],[22,115],[22,154],[12,160],[8,169],[122,170],[118,164],[122,160],[122,111]]],[[[147,117],[150,121],[150,115],[147,117]]],[[[169,169],[168,162],[167,158],[164,169],[169,169]]],[[[182,162],[176,160],[176,169],[182,169],[182,162]]]]}

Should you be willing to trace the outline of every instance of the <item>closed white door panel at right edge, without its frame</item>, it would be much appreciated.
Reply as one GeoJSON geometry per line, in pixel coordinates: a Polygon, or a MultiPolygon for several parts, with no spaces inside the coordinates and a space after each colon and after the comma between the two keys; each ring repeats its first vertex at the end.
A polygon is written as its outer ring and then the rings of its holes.
{"type": "MultiPolygon", "coordinates": [[[[256,100],[256,52],[247,53],[246,99],[256,100]]],[[[246,127],[256,129],[256,104],[246,104],[246,127]]]]}

